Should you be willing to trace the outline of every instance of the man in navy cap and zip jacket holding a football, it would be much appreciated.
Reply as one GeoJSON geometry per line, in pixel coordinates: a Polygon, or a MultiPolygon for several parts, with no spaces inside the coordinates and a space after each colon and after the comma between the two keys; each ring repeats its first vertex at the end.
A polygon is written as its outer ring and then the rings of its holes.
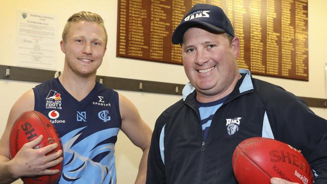
{"type": "MultiPolygon", "coordinates": [[[[283,88],[238,69],[239,40],[222,9],[195,5],[172,41],[182,46],[192,85],[184,88],[185,99],[156,121],[148,184],[237,183],[232,154],[250,137],[273,138],[300,149],[315,184],[327,182],[327,121],[283,88]]],[[[271,182],[291,183],[280,178],[271,182]]]]}

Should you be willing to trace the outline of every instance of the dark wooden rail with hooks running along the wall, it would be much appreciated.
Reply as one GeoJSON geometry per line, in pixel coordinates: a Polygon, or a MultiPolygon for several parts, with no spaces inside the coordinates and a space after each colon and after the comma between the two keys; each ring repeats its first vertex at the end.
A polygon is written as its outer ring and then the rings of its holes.
{"type": "MultiPolygon", "coordinates": [[[[43,82],[54,78],[56,71],[0,65],[0,79],[43,82]]],[[[182,95],[184,84],[157,82],[97,75],[96,80],[105,86],[118,89],[156,94],[182,95]]],[[[327,99],[302,98],[309,107],[327,108],[327,99]]]]}

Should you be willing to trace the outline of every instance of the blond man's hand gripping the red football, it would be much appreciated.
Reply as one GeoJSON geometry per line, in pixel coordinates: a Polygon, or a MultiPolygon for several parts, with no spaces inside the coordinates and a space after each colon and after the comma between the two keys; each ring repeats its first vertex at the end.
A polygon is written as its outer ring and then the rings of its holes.
{"type": "Polygon", "coordinates": [[[42,139],[43,135],[40,135],[33,141],[24,144],[16,156],[5,164],[8,171],[12,173],[13,178],[56,174],[60,171],[58,169],[48,168],[62,162],[62,150],[46,155],[57,148],[57,143],[47,145],[43,148],[33,149],[41,143],[42,139]]]}

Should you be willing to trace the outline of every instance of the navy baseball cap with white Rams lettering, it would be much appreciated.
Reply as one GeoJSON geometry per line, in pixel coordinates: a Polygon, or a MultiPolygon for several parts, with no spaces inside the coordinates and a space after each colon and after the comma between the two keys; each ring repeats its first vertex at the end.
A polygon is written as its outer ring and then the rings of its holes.
{"type": "Polygon", "coordinates": [[[173,33],[173,44],[179,44],[183,40],[184,33],[193,26],[202,26],[213,33],[228,33],[234,37],[234,28],[224,11],[214,5],[196,4],[183,17],[181,24],[173,33]]]}

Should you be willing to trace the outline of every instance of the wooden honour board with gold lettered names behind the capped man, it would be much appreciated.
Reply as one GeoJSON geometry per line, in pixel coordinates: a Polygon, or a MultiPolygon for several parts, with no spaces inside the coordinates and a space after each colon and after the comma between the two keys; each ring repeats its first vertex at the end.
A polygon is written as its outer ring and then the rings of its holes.
{"type": "Polygon", "coordinates": [[[171,38],[197,3],[221,7],[240,40],[240,68],[308,80],[307,0],[119,0],[117,56],[182,64],[171,38]]]}

